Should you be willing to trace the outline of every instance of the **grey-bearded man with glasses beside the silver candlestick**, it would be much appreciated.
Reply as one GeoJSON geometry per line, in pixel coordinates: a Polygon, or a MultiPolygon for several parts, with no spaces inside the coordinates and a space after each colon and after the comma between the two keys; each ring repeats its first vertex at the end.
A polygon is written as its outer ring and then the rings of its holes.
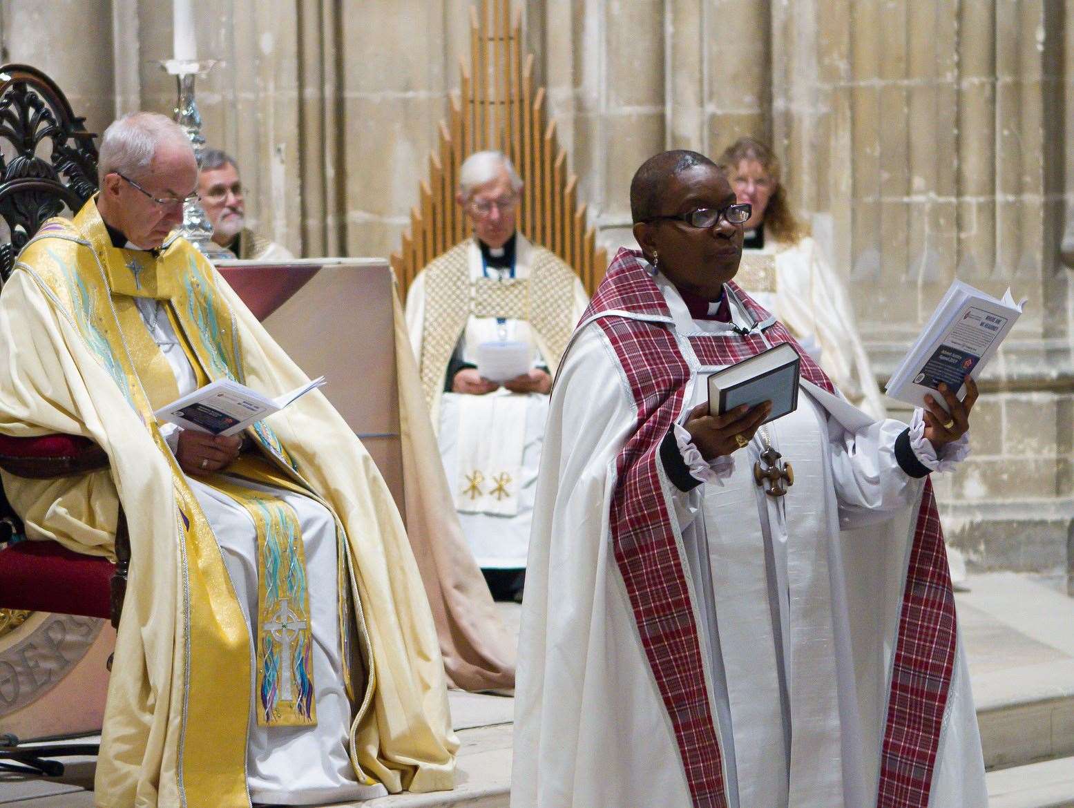
{"type": "Polygon", "coordinates": [[[255,261],[290,261],[294,255],[282,244],[266,239],[246,227],[246,201],[238,165],[227,152],[206,149],[201,158],[198,193],[205,215],[213,222],[213,241],[235,254],[255,261]]]}

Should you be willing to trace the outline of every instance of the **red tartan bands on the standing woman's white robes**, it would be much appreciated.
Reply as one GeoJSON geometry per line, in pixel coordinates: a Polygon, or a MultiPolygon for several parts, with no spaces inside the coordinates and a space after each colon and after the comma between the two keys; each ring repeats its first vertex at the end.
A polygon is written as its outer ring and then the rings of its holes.
{"type": "MultiPolygon", "coordinates": [[[[582,316],[583,323],[595,318],[611,343],[638,409],[637,429],[616,459],[612,547],[676,733],[693,805],[724,808],[722,754],[698,630],[657,473],[659,445],[682,412],[690,367],[669,323],[667,302],[639,259],[639,252],[621,249],[582,316]]],[[[729,286],[757,322],[769,318],[735,284],[729,286]]],[[[789,343],[801,357],[802,375],[834,391],[782,323],[766,329],[765,335],[772,344],[789,343]]],[[[690,342],[700,362],[716,365],[768,347],[757,335],[700,335],[690,342]]],[[[926,480],[896,644],[879,808],[928,805],[954,659],[954,594],[935,501],[926,480]]]]}

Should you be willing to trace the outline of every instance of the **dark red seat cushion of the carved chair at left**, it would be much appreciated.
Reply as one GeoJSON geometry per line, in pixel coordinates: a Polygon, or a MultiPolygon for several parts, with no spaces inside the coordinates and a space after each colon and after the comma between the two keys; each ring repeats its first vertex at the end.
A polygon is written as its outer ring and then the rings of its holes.
{"type": "Polygon", "coordinates": [[[0,608],[108,618],[115,568],[56,542],[19,542],[0,550],[0,608]]]}

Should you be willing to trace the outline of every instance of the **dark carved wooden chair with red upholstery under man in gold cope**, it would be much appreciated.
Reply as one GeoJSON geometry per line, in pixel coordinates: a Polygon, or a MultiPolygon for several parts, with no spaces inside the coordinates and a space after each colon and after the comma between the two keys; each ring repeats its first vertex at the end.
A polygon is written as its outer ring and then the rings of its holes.
{"type": "MultiPolygon", "coordinates": [[[[85,119],[76,117],[59,87],[25,64],[0,67],[0,217],[9,235],[0,242],[0,278],[38,228],[64,208],[75,212],[97,191],[97,147],[85,119]]],[[[33,479],[67,477],[105,468],[108,458],[78,435],[0,435],[0,468],[33,479]]],[[[0,488],[0,611],[50,611],[111,618],[119,625],[130,539],[120,507],[116,557],[83,556],[56,542],[24,540],[23,524],[0,488]]],[[[108,660],[111,667],[111,658],[108,660]]],[[[35,746],[0,734],[0,768],[58,776],[63,766],[46,758],[96,754],[95,745],[35,746]]]]}

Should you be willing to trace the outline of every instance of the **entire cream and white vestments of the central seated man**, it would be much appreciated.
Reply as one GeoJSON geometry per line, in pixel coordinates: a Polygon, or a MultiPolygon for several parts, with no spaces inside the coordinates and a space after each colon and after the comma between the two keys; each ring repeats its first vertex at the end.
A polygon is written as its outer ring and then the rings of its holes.
{"type": "Polygon", "coordinates": [[[575,272],[516,234],[513,277],[485,271],[476,240],[438,257],[407,293],[407,328],[437,427],[455,509],[479,566],[525,566],[548,396],[444,392],[452,356],[477,364],[481,343],[527,343],[554,375],[587,299],[575,272]]]}

